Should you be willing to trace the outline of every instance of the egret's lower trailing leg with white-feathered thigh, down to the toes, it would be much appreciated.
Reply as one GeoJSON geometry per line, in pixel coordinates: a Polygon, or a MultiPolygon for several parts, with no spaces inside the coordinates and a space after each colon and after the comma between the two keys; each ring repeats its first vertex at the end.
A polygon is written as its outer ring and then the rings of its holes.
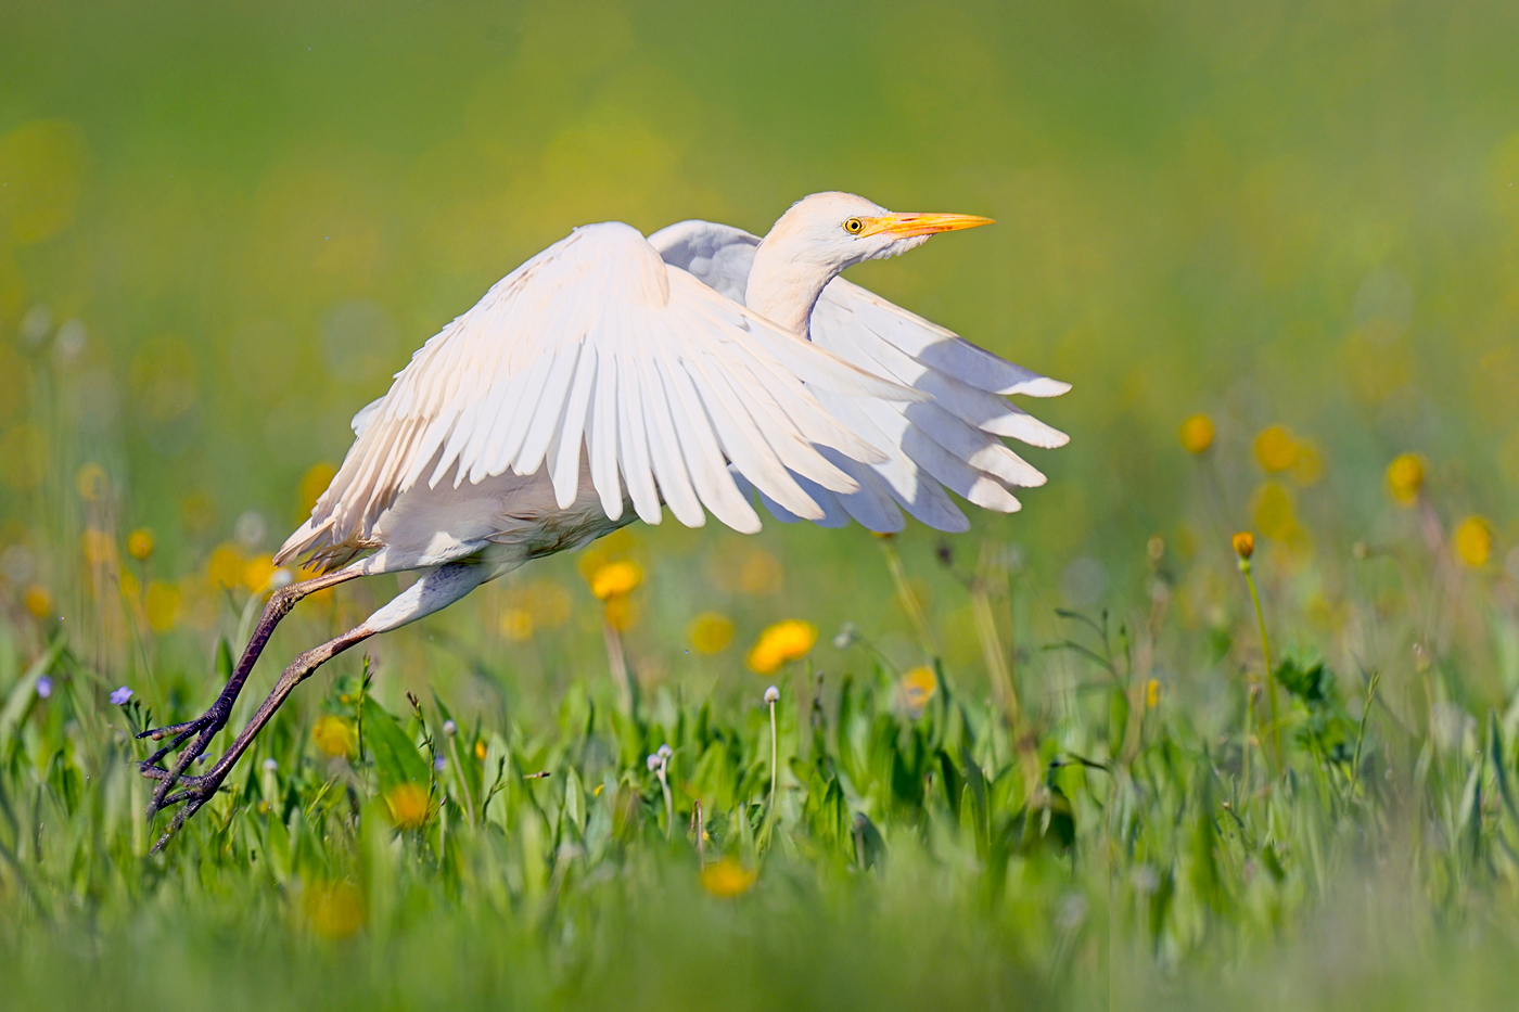
{"type": "MultiPolygon", "coordinates": [[[[275,716],[279,705],[295,691],[295,687],[310,678],[311,672],[333,659],[343,650],[354,644],[363,643],[377,632],[389,632],[390,629],[398,629],[410,621],[416,621],[422,615],[428,615],[441,608],[447,608],[454,603],[475,587],[494,576],[494,570],[489,565],[472,565],[469,562],[450,562],[436,570],[428,571],[422,579],[401,591],[390,603],[384,605],[375,614],[369,615],[365,621],[354,626],[348,632],[333,640],[328,640],[319,647],[313,647],[305,653],[295,658],[284,673],[279,675],[279,681],[275,682],[273,690],[260,704],[258,710],[254,713],[252,719],[248,722],[237,738],[232,742],[231,748],[216,761],[204,776],[178,776],[182,772],[185,761],[181,758],[175,764],[175,770],[163,770],[159,767],[143,769],[144,776],[159,780],[158,789],[153,792],[153,802],[149,805],[149,818],[152,818],[159,808],[167,805],[184,802],[184,808],[175,813],[175,821],[170,824],[169,830],[159,837],[153,845],[153,851],[158,851],[169,842],[169,837],[184,825],[185,819],[199,811],[207,801],[210,801],[217,789],[220,789],[222,781],[226,775],[232,772],[237,760],[242,758],[248,746],[252,745],[254,738],[263,731],[264,725],[275,716]],[[184,786],[184,790],[170,795],[169,790],[173,783],[178,781],[184,786]],[[161,796],[163,795],[163,796],[161,796]]],[[[208,742],[210,735],[202,732],[202,737],[208,742]]],[[[196,745],[201,745],[201,738],[196,738],[196,745]]],[[[204,745],[201,746],[204,751],[204,745]]]]}

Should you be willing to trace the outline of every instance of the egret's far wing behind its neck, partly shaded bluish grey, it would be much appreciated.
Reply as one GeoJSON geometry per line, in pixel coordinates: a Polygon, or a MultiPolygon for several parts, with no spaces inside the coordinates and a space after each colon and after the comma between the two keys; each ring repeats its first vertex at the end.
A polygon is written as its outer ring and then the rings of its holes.
{"type": "MultiPolygon", "coordinates": [[[[760,245],[756,236],[714,222],[681,222],[655,232],[649,242],[671,266],[738,301],[760,245]]],[[[823,508],[819,523],[825,526],[843,526],[852,517],[872,530],[901,530],[901,506],[939,530],[965,530],[969,523],[945,494],[946,488],[977,506],[1013,512],[1019,503],[1010,488],[1045,482],[1003,436],[1034,447],[1068,442],[1065,433],[1007,400],[1012,394],[1056,397],[1071,389],[1068,383],[998,359],[858,284],[834,278],[813,308],[810,331],[817,346],[928,395],[893,403],[816,391],[829,413],[887,454],[886,460],[866,465],[823,450],[860,485],[858,491],[846,492],[801,482],[823,508]]],[[[760,492],[779,520],[802,518],[764,489],[760,492]]]]}

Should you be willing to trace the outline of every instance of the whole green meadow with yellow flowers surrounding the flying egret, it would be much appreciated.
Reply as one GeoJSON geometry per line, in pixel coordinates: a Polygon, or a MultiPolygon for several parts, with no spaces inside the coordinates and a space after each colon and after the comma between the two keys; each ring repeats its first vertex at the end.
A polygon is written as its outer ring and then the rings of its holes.
{"type": "Polygon", "coordinates": [[[1516,20],[5,8],[0,1006],[1507,1004],[1516,20]],[[1074,384],[1022,512],[535,562],[150,852],[132,735],[412,348],[574,225],[822,188],[998,219],[849,277],[1074,384]]]}

